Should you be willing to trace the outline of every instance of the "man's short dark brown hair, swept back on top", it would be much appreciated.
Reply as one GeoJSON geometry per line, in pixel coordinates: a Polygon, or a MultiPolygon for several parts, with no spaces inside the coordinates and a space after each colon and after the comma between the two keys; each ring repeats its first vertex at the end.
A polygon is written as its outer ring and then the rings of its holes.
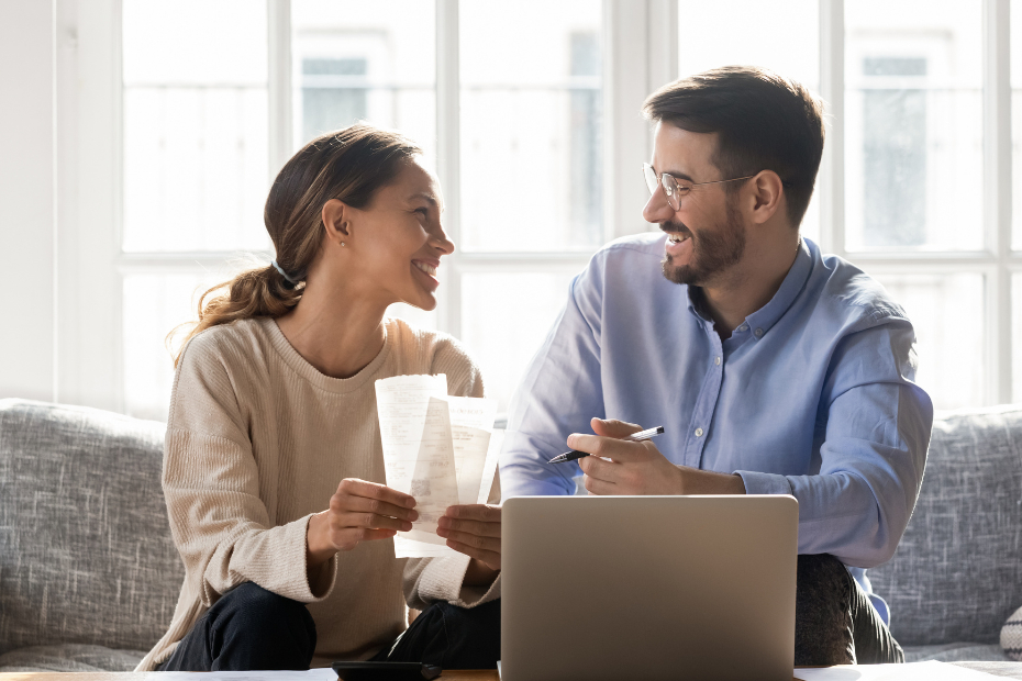
{"type": "MultiPolygon", "coordinates": [[[[693,133],[716,133],[713,164],[724,178],[773,170],[788,217],[802,222],[823,155],[820,102],[800,83],[753,66],[725,66],[668,83],[643,114],[693,133]]],[[[740,183],[725,183],[734,192],[740,183]]]]}

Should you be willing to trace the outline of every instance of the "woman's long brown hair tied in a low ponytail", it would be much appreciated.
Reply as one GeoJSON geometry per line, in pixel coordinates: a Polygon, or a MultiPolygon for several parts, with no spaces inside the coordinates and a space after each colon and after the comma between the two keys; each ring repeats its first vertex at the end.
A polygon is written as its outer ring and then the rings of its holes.
{"type": "MultiPolygon", "coordinates": [[[[255,316],[278,317],[297,305],[323,239],[323,205],[340,199],[365,208],[377,189],[391,182],[404,163],[421,153],[402,135],[362,123],[302,147],[277,174],[263,211],[277,264],[288,278],[267,265],[209,289],[199,299],[199,321],[192,323],[180,347],[211,326],[255,316]]],[[[175,356],[175,365],[179,358],[175,356]]]]}

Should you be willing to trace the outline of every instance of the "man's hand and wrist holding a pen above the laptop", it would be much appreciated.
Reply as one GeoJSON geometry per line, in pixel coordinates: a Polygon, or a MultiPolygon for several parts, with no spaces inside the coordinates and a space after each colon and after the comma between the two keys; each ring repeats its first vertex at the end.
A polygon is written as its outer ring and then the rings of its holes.
{"type": "Polygon", "coordinates": [[[676,466],[649,440],[622,440],[642,426],[623,421],[592,420],[596,435],[568,436],[568,447],[592,456],[578,460],[590,494],[744,494],[740,476],[676,466]],[[610,460],[607,460],[610,459],[610,460]]]}

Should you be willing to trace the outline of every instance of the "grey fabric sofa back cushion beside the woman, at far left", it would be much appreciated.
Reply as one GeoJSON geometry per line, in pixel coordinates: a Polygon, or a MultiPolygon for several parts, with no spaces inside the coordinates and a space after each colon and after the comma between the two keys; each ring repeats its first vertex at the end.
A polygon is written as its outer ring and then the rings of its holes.
{"type": "Polygon", "coordinates": [[[0,400],[0,654],[147,650],[184,579],[160,490],[165,426],[0,400]]]}

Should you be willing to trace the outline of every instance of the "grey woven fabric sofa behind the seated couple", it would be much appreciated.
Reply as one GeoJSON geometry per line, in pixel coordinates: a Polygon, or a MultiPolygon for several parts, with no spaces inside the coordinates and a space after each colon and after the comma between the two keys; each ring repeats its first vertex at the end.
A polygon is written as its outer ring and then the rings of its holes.
{"type": "MultiPolygon", "coordinates": [[[[164,425],[0,400],[0,672],[131,670],[184,569],[159,484],[164,425]]],[[[909,661],[1022,679],[998,645],[1022,606],[1022,405],[940,414],[915,513],[868,572],[909,661]]]]}

